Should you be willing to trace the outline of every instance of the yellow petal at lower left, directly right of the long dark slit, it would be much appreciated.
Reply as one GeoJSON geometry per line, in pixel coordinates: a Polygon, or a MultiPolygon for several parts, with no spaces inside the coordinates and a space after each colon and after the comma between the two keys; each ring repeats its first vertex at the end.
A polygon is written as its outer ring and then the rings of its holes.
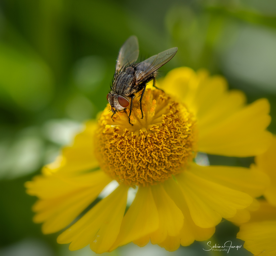
{"type": "Polygon", "coordinates": [[[71,242],[70,250],[81,249],[90,243],[94,252],[106,252],[118,236],[126,208],[127,193],[128,187],[120,185],[60,234],[57,242],[71,242]]]}

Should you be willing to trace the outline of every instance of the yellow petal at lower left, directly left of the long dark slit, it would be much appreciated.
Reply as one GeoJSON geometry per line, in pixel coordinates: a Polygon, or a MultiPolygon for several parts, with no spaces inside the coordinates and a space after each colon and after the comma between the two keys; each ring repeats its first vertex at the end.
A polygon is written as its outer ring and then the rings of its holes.
{"type": "Polygon", "coordinates": [[[39,177],[38,180],[39,182],[29,182],[32,194],[42,198],[33,206],[33,210],[37,213],[34,221],[44,222],[42,231],[44,234],[49,234],[69,225],[96,199],[111,178],[103,171],[94,171],[75,179],[60,180],[54,174],[44,177],[44,180],[43,177],[39,177]],[[47,191],[49,197],[46,197],[47,191]]]}

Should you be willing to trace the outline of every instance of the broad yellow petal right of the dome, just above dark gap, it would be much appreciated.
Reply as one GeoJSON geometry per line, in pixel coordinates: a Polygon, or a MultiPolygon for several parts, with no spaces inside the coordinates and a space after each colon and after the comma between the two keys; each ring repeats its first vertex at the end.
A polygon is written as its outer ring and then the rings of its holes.
{"type": "Polygon", "coordinates": [[[198,149],[208,154],[248,157],[264,153],[271,139],[269,102],[259,99],[222,122],[199,131],[198,149]]]}

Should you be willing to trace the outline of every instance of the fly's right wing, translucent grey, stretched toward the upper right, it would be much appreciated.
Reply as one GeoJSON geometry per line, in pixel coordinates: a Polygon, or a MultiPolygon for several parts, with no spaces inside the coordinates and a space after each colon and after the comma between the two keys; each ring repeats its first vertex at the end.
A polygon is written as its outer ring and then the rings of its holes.
{"type": "Polygon", "coordinates": [[[143,62],[137,64],[135,72],[136,84],[139,84],[146,76],[155,72],[158,68],[166,64],[176,54],[177,47],[160,52],[143,62]]]}

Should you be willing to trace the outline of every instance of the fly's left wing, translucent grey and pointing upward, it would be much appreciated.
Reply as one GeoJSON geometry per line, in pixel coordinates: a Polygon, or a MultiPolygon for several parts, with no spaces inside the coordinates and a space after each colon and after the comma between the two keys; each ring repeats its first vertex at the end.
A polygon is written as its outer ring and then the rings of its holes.
{"type": "Polygon", "coordinates": [[[134,64],[139,56],[139,44],[136,36],[130,36],[121,47],[116,60],[116,71],[126,64],[134,64]]]}

